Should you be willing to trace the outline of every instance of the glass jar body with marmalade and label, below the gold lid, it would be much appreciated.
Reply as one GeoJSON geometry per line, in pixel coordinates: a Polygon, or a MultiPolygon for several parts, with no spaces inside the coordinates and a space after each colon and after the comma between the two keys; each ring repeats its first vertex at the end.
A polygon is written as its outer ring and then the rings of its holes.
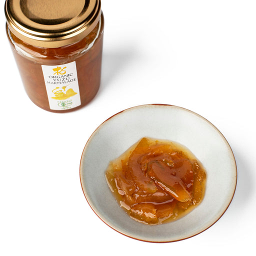
{"type": "Polygon", "coordinates": [[[94,98],[101,74],[102,13],[83,39],[58,48],[29,45],[6,28],[25,91],[34,104],[51,112],[67,112],[94,98]]]}

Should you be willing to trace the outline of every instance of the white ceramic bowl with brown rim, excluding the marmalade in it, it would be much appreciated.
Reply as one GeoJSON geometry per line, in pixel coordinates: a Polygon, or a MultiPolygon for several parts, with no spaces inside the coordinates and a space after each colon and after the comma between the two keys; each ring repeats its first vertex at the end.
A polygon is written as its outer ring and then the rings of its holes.
{"type": "Polygon", "coordinates": [[[236,177],[232,150],[219,130],[202,116],[173,105],[140,105],[108,118],[88,139],[80,162],[82,190],[97,216],[126,236],[151,242],[185,239],[210,227],[229,206],[236,177]],[[131,219],[106,183],[104,174],[109,161],[144,136],[183,144],[206,170],[202,202],[176,221],[146,225],[131,219]]]}

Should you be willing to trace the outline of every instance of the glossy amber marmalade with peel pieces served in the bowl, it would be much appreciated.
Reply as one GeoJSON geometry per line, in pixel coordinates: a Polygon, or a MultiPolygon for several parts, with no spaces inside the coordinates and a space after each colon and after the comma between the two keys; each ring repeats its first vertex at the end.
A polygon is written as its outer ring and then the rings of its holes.
{"type": "Polygon", "coordinates": [[[143,137],[109,163],[105,176],[128,215],[153,225],[178,219],[198,205],[206,174],[184,146],[143,137]]]}

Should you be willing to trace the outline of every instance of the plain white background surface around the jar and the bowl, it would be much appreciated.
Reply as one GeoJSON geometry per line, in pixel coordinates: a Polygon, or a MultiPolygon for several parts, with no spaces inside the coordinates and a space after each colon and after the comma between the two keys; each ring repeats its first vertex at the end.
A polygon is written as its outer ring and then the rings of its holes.
{"type": "Polygon", "coordinates": [[[0,255],[254,251],[256,2],[103,0],[102,10],[101,87],[87,106],[59,114],[28,99],[5,36],[1,1],[0,255]],[[229,208],[186,240],[157,244],[121,235],[93,213],[82,193],[79,162],[91,133],[114,113],[145,103],[202,115],[236,158],[229,208]]]}

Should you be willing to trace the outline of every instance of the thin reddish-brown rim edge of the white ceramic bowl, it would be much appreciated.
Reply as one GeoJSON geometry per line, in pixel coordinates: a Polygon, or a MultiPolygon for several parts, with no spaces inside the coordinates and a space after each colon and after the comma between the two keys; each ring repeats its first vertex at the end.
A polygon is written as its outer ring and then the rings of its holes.
{"type": "Polygon", "coordinates": [[[118,232],[118,233],[120,233],[120,234],[122,234],[122,235],[124,235],[124,236],[127,236],[127,237],[129,237],[129,238],[135,239],[135,240],[144,241],[144,242],[152,242],[152,243],[167,243],[167,242],[176,242],[176,241],[185,240],[185,239],[191,238],[191,237],[193,237],[193,236],[195,236],[195,235],[198,235],[198,234],[204,232],[205,230],[207,230],[208,228],[210,228],[212,225],[214,225],[214,224],[223,216],[223,214],[226,212],[226,210],[227,210],[227,208],[229,207],[229,205],[230,205],[230,203],[231,203],[231,201],[232,201],[232,199],[233,199],[233,197],[234,197],[234,194],[235,194],[236,185],[237,185],[237,165],[236,165],[236,161],[235,161],[235,157],[234,157],[232,148],[231,148],[231,146],[229,145],[228,141],[226,140],[226,138],[224,137],[224,135],[219,131],[219,129],[218,129],[215,125],[213,125],[210,121],[208,121],[206,118],[204,118],[203,116],[201,116],[200,114],[198,114],[198,113],[196,113],[196,112],[194,112],[194,111],[192,111],[192,110],[189,110],[189,109],[187,109],[187,108],[180,107],[180,106],[177,106],[177,105],[163,104],[163,103],[149,103],[149,104],[141,104],[141,105],[136,105],[136,106],[131,106],[131,107],[125,108],[125,109],[123,109],[123,110],[121,110],[121,111],[119,111],[119,112],[117,112],[117,113],[111,115],[110,117],[108,117],[107,119],[105,119],[102,123],[100,123],[100,124],[96,127],[96,129],[95,129],[95,130],[91,133],[91,135],[89,136],[89,138],[88,138],[88,140],[86,141],[86,143],[85,143],[85,145],[84,145],[84,148],[83,148],[83,150],[82,150],[82,154],[81,154],[81,157],[80,157],[80,165],[79,165],[79,178],[80,178],[80,185],[81,185],[81,188],[82,188],[82,192],[83,192],[83,194],[84,194],[84,197],[85,197],[87,203],[89,204],[89,206],[90,206],[90,208],[92,209],[92,211],[98,216],[98,218],[99,218],[101,221],[103,221],[107,226],[109,226],[110,228],[112,228],[112,229],[115,230],[116,232],[118,232]],[[229,150],[230,150],[230,152],[231,152],[231,154],[232,154],[232,158],[233,158],[233,160],[234,160],[235,184],[234,184],[232,196],[231,196],[229,202],[227,203],[226,207],[224,208],[224,210],[223,210],[222,213],[220,214],[220,216],[219,216],[218,218],[216,218],[210,225],[208,225],[207,227],[205,227],[204,229],[202,229],[201,231],[198,231],[198,232],[196,232],[195,234],[192,234],[192,235],[184,236],[183,238],[180,238],[180,239],[170,239],[170,240],[166,240],[166,241],[165,241],[165,240],[164,240],[164,241],[154,241],[154,240],[149,240],[149,239],[148,239],[148,240],[145,240],[145,239],[141,239],[141,238],[138,238],[138,237],[134,237],[134,236],[128,235],[128,234],[126,234],[126,233],[124,233],[124,232],[121,232],[120,230],[117,230],[116,228],[114,228],[113,226],[111,226],[111,224],[109,224],[109,223],[107,223],[106,221],[104,221],[104,220],[100,217],[100,215],[96,212],[96,210],[95,210],[95,209],[93,208],[93,206],[91,205],[90,200],[89,200],[89,198],[87,197],[86,192],[84,191],[85,189],[83,188],[83,185],[82,185],[82,178],[81,178],[81,171],[82,171],[81,165],[82,165],[82,164],[81,164],[81,163],[82,163],[83,154],[84,154],[84,152],[85,152],[85,150],[86,150],[86,148],[87,148],[87,145],[88,145],[90,139],[94,136],[94,134],[96,133],[96,131],[97,131],[105,122],[107,122],[109,119],[111,119],[112,117],[114,117],[114,116],[116,116],[116,115],[118,115],[118,114],[121,114],[121,113],[124,112],[124,111],[130,110],[130,109],[132,109],[132,108],[147,107],[147,106],[152,106],[152,105],[153,105],[153,106],[154,106],[154,105],[158,105],[158,106],[168,106],[168,107],[171,107],[171,106],[172,106],[172,107],[177,107],[177,108],[179,108],[179,109],[182,109],[182,110],[188,111],[188,112],[190,112],[190,113],[192,113],[192,114],[195,114],[195,115],[197,115],[199,118],[204,119],[208,124],[210,124],[210,125],[219,133],[220,136],[222,136],[223,140],[224,140],[225,143],[228,145],[229,150]]]}

